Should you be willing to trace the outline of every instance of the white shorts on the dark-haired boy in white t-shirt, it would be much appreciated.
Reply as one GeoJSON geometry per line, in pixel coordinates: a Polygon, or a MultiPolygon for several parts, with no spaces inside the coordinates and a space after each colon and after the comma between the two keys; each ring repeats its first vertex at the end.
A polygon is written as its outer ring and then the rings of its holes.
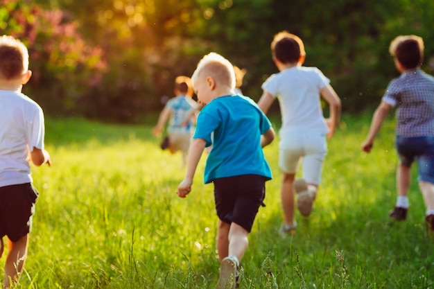
{"type": "Polygon", "coordinates": [[[279,167],[284,173],[297,173],[302,160],[303,178],[309,184],[320,184],[322,164],[327,155],[325,134],[293,134],[279,145],[279,167]]]}

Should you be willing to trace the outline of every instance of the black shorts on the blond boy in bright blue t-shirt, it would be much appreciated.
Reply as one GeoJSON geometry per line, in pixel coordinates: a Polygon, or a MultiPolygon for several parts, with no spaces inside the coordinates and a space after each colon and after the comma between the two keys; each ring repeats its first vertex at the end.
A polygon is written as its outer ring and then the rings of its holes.
{"type": "Polygon", "coordinates": [[[214,179],[214,200],[217,216],[227,224],[240,225],[252,231],[259,207],[265,206],[266,177],[237,175],[214,179]]]}

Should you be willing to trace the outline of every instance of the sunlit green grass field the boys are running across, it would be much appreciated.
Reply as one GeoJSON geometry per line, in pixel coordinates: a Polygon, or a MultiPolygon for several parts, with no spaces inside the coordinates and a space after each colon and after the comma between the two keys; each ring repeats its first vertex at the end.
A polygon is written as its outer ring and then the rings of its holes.
{"type": "MultiPolygon", "coordinates": [[[[434,288],[422,195],[413,182],[408,220],[390,222],[394,123],[366,155],[370,118],[342,117],[313,213],[297,213],[294,236],[277,232],[278,141],[265,148],[274,179],[241,262],[241,288],[434,288]]],[[[180,155],[160,150],[150,129],[46,121],[53,165],[33,169],[40,198],[19,288],[214,288],[217,219],[213,186],[202,184],[205,156],[193,191],[178,198],[180,155]]]]}

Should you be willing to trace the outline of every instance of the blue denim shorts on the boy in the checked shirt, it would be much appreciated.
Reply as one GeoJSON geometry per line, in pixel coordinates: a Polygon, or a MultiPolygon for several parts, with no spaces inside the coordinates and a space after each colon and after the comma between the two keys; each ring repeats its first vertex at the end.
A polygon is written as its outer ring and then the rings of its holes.
{"type": "Polygon", "coordinates": [[[434,137],[399,137],[395,140],[399,161],[410,167],[417,161],[419,181],[434,184],[434,137]]]}

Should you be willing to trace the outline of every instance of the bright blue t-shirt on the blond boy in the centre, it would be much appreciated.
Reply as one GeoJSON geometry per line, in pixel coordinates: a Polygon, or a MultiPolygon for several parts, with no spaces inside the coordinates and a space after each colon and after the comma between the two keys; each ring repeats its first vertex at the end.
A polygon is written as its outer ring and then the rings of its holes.
{"type": "Polygon", "coordinates": [[[205,165],[205,184],[221,177],[261,175],[271,170],[261,148],[261,134],[271,123],[254,101],[245,96],[222,96],[202,108],[193,139],[212,145],[205,165]]]}

